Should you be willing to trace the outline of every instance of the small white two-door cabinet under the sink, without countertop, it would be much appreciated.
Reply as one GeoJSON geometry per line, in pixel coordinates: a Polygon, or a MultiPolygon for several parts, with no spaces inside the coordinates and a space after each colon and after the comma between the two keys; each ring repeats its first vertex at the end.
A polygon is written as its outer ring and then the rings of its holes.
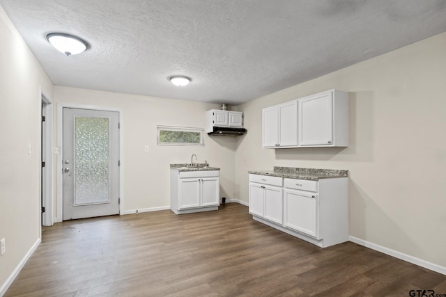
{"type": "Polygon", "coordinates": [[[175,214],[217,210],[220,205],[218,170],[171,169],[171,211],[175,214]]]}

